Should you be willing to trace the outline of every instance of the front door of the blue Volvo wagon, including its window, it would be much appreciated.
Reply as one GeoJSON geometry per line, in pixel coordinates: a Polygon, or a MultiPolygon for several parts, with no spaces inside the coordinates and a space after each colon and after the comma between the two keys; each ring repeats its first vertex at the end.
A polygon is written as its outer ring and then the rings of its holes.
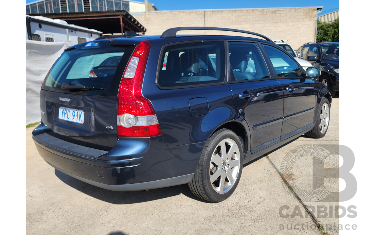
{"type": "Polygon", "coordinates": [[[281,139],[284,139],[312,124],[316,99],[315,80],[306,78],[296,61],[285,52],[268,44],[262,46],[270,58],[277,81],[283,86],[284,115],[281,139]]]}

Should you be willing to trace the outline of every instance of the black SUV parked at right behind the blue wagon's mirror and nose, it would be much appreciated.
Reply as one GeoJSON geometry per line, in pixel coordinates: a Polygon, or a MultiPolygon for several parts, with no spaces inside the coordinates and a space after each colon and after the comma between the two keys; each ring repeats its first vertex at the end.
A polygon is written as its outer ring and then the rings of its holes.
{"type": "Polygon", "coordinates": [[[319,81],[328,87],[331,95],[339,91],[340,78],[340,43],[339,42],[309,42],[301,46],[296,54],[313,65],[320,67],[319,81]]]}

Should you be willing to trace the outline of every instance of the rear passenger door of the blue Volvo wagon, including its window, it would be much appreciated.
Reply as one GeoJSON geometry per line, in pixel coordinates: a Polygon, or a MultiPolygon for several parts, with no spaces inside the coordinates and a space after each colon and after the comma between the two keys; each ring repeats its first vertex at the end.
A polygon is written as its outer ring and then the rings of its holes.
{"type": "Polygon", "coordinates": [[[235,106],[251,133],[251,152],[280,141],[283,120],[283,88],[270,78],[255,42],[228,42],[235,106]]]}

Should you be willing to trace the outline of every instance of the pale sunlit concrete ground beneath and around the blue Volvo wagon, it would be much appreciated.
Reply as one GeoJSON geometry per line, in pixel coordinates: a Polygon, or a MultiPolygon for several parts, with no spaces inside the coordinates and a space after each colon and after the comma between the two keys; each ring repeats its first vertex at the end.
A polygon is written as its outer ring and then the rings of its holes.
{"type": "Polygon", "coordinates": [[[113,192],[73,179],[39,156],[33,129],[26,129],[27,234],[323,234],[319,221],[326,232],[339,234],[338,202],[321,202],[339,191],[339,179],[326,177],[321,185],[313,177],[313,165],[315,172],[323,169],[320,160],[324,168],[339,167],[339,98],[324,138],[299,137],[245,165],[237,189],[220,203],[198,199],[187,185],[113,192]],[[293,153],[299,156],[294,161],[293,153]]]}

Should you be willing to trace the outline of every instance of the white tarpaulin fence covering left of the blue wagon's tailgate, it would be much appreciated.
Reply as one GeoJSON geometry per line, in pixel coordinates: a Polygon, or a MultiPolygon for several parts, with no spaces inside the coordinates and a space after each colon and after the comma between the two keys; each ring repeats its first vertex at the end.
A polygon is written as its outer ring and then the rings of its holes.
{"type": "Polygon", "coordinates": [[[49,69],[72,43],[26,40],[26,125],[41,121],[39,92],[49,69]]]}

